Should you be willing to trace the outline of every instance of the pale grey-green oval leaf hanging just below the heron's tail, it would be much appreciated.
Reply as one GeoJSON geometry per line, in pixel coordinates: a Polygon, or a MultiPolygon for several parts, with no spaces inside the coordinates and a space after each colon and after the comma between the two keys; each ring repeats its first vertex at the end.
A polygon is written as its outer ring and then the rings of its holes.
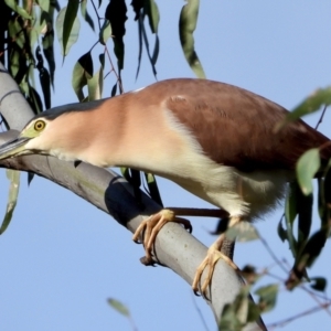
{"type": "Polygon", "coordinates": [[[321,167],[320,151],[313,148],[305,152],[297,163],[297,178],[303,194],[312,193],[312,179],[321,167]]]}

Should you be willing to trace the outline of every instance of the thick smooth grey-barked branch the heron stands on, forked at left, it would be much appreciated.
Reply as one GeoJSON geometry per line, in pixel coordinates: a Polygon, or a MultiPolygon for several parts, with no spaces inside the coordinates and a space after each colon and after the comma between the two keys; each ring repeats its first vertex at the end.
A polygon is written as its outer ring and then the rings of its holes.
{"type": "MultiPolygon", "coordinates": [[[[18,92],[10,75],[0,63],[0,111],[10,128],[22,129],[33,116],[24,98],[18,92]]],[[[14,137],[10,130],[0,134],[0,143],[14,137]]],[[[141,193],[145,210],[136,203],[130,184],[113,171],[90,164],[65,162],[52,157],[25,156],[0,161],[0,168],[34,172],[76,193],[102,211],[110,214],[119,224],[132,233],[143,216],[158,212],[161,207],[141,193]]],[[[195,270],[206,255],[206,247],[175,223],[166,224],[157,236],[154,255],[158,261],[192,284],[195,270]],[[190,249],[186,249],[190,247],[190,249]]],[[[204,279],[203,275],[203,279],[204,279]]],[[[224,305],[232,302],[241,289],[242,280],[223,260],[215,267],[211,293],[211,306],[218,322],[224,305]]],[[[266,330],[263,322],[250,323],[244,330],[266,330]]]]}

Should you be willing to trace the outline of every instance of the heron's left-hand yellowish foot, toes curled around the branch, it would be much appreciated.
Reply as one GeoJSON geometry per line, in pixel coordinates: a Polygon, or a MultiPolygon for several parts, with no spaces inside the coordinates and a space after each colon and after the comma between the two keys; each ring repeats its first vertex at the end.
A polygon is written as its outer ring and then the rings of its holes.
{"type": "Polygon", "coordinates": [[[149,216],[147,220],[142,221],[134,234],[134,242],[140,244],[140,235],[142,235],[142,244],[145,247],[146,256],[141,259],[145,265],[153,265],[152,261],[152,248],[157,238],[158,233],[162,226],[168,222],[180,223],[192,232],[192,225],[190,221],[181,217],[177,217],[174,212],[171,210],[162,210],[157,214],[149,216]]]}

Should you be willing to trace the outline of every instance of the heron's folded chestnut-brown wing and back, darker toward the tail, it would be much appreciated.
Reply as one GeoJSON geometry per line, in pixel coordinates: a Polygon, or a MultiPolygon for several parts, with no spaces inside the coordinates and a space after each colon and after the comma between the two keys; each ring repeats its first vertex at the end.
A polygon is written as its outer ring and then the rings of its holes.
{"type": "MultiPolygon", "coordinates": [[[[306,150],[329,141],[302,120],[276,134],[275,126],[288,111],[248,90],[200,79],[168,82],[167,108],[217,163],[242,171],[291,170],[306,150]]],[[[330,156],[331,149],[324,149],[322,158],[330,156]]]]}

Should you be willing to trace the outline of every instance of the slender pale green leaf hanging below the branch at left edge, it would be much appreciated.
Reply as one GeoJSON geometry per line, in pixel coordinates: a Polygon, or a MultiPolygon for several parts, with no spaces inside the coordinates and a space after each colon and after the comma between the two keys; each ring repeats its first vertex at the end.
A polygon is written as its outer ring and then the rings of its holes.
{"type": "Polygon", "coordinates": [[[7,229],[9,223],[12,218],[12,214],[17,206],[19,189],[20,189],[20,171],[7,169],[6,172],[7,172],[7,178],[10,181],[10,188],[9,188],[9,194],[8,194],[6,215],[3,217],[3,221],[2,221],[2,224],[0,227],[0,235],[4,233],[4,231],[7,229]]]}

